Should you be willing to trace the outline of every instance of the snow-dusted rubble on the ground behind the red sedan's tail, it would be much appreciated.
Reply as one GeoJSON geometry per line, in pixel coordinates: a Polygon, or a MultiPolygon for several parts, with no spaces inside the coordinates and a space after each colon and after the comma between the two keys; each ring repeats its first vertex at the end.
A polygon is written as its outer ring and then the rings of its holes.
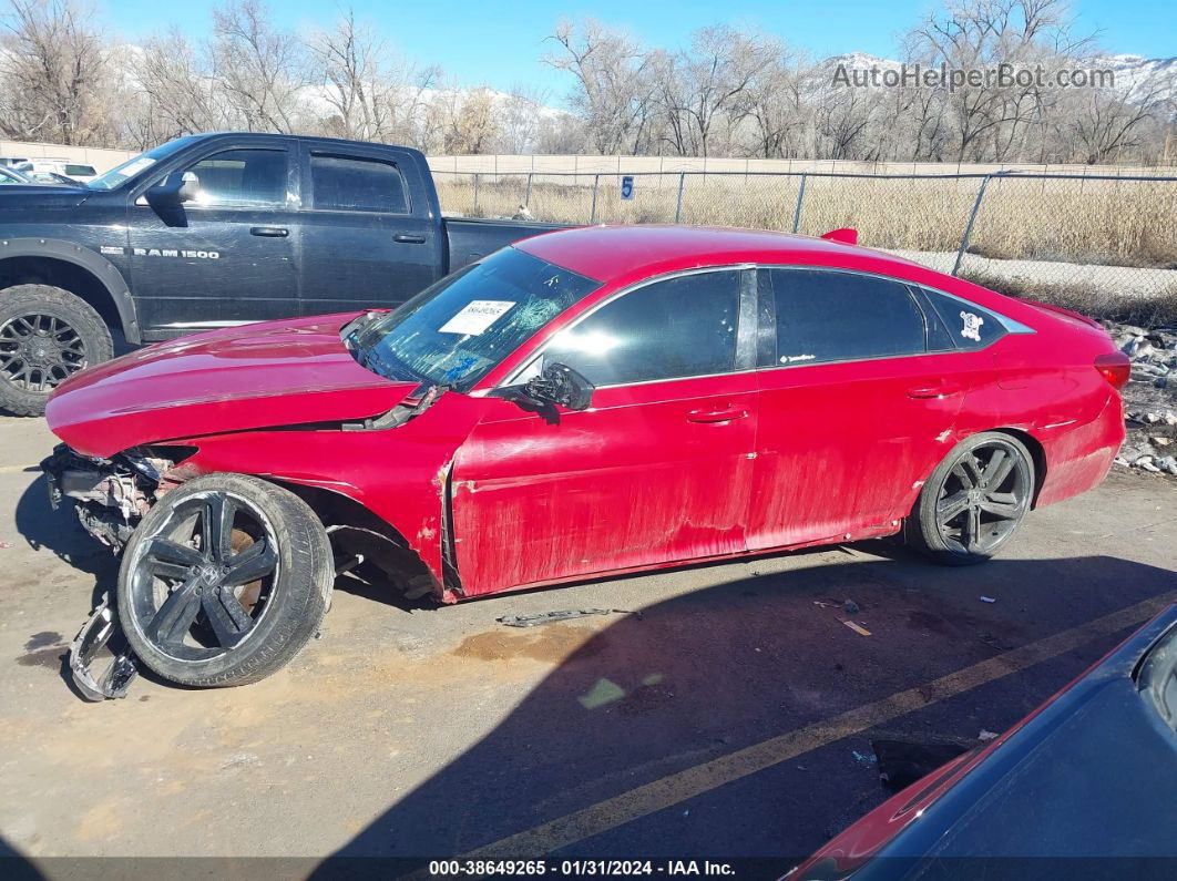
{"type": "Polygon", "coordinates": [[[1177,327],[1143,328],[1105,321],[1132,361],[1124,395],[1128,438],[1116,463],[1177,475],[1177,327]]]}

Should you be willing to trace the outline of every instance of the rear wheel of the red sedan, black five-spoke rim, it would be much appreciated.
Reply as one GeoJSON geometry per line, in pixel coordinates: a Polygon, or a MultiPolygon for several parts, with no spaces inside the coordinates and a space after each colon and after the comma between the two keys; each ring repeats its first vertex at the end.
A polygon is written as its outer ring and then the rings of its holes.
{"type": "Polygon", "coordinates": [[[998,432],[973,435],[924,483],[907,539],[938,562],[982,562],[1012,538],[1033,489],[1033,466],[1020,441],[998,432]]]}

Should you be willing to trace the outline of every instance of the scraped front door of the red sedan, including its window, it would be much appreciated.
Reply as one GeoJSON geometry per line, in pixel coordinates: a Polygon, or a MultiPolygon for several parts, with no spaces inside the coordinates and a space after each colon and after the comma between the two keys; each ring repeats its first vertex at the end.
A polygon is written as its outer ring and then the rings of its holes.
{"type": "Polygon", "coordinates": [[[587,411],[487,400],[453,469],[467,594],[744,549],[756,374],[740,276],[654,281],[558,334],[532,368],[584,374],[587,411]]]}

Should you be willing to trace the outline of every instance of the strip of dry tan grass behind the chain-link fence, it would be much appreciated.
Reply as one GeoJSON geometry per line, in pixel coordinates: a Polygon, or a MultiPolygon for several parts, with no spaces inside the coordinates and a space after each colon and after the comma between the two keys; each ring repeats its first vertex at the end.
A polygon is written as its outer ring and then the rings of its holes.
{"type": "MultiPolygon", "coordinates": [[[[587,222],[592,178],[438,175],[441,207],[467,216],[511,216],[526,203],[537,220],[587,222]],[[567,180],[567,179],[565,179],[567,180]]],[[[799,176],[689,175],[680,221],[790,231],[799,176]]],[[[817,178],[805,182],[799,232],[858,229],[872,247],[956,251],[977,196],[976,178],[817,178]]],[[[674,219],[678,175],[638,176],[623,201],[617,175],[600,175],[594,219],[610,223],[674,219]]],[[[990,181],[970,252],[1002,260],[1055,260],[1177,268],[1177,181],[1005,178],[990,181]]]]}

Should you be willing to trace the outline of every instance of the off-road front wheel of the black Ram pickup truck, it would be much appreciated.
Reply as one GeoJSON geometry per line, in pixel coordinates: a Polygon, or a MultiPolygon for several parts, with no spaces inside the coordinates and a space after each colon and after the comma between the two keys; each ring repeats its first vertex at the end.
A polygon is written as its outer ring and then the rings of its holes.
{"type": "Polygon", "coordinates": [[[0,291],[0,407],[18,416],[45,413],[49,392],[78,371],[114,356],[111,332],[94,308],[49,285],[0,291]]]}

